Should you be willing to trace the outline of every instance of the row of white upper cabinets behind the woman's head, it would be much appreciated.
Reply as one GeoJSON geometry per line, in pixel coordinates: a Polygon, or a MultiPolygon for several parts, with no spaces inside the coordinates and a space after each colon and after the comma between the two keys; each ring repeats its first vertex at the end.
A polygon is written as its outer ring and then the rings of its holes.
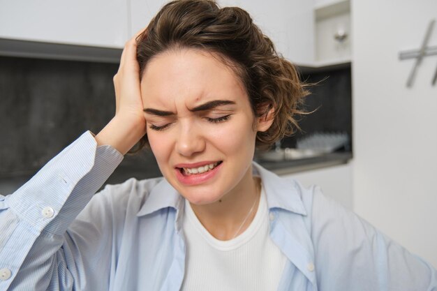
{"type": "MultiPolygon", "coordinates": [[[[318,21],[318,11],[333,11],[344,7],[341,3],[349,0],[335,0],[339,4],[328,4],[322,0],[218,0],[221,6],[239,6],[247,10],[255,24],[269,36],[276,50],[295,64],[320,66],[325,59],[338,61],[349,52],[332,43],[333,29],[337,29],[337,20],[318,21]],[[315,3],[318,6],[315,6],[315,3]],[[329,35],[329,37],[328,37],[329,35]],[[322,50],[320,50],[320,47],[322,50]],[[340,54],[339,54],[340,52],[340,54]]],[[[323,0],[327,1],[327,0],[323,0]]],[[[35,47],[26,43],[8,43],[1,40],[30,40],[33,43],[52,43],[87,47],[105,47],[121,49],[126,40],[140,29],[144,29],[150,20],[168,0],[0,0],[0,54],[22,55],[27,57],[50,57],[81,59],[81,54],[94,54],[99,59],[101,52],[82,52],[80,48],[64,52],[47,46],[47,53],[35,53],[35,47]],[[15,52],[20,47],[23,52],[15,52]],[[23,47],[24,46],[24,47],[23,47]]],[[[346,16],[341,20],[348,22],[346,16]]],[[[338,29],[337,29],[338,30],[338,29]]],[[[335,31],[334,31],[335,32],[335,31]]],[[[113,53],[117,54],[117,53],[113,53]]],[[[117,60],[111,57],[112,61],[117,60]]],[[[86,59],[83,58],[83,59],[86,59]]],[[[105,59],[105,58],[100,58],[105,59]]]]}

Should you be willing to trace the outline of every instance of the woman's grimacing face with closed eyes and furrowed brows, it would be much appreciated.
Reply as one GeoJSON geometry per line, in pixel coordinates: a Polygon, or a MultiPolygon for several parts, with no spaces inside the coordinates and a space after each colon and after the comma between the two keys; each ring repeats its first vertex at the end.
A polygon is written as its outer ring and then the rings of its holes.
{"type": "Polygon", "coordinates": [[[243,190],[252,179],[256,131],[269,124],[255,121],[228,66],[201,50],[164,52],[147,64],[141,91],[151,150],[179,193],[209,204],[243,190]]]}

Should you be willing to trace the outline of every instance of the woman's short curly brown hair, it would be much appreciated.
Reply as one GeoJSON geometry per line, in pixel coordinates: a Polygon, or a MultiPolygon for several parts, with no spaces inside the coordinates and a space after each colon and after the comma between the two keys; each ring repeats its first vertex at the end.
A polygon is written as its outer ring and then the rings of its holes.
{"type": "MultiPolygon", "coordinates": [[[[255,117],[274,110],[272,126],[256,135],[258,149],[268,148],[299,128],[296,117],[304,114],[299,105],[309,94],[306,84],[242,8],[220,8],[209,0],[171,1],[138,36],[137,43],[141,75],[153,57],[168,50],[195,48],[221,56],[241,78],[255,117]]],[[[145,135],[139,148],[147,144],[145,135]]]]}

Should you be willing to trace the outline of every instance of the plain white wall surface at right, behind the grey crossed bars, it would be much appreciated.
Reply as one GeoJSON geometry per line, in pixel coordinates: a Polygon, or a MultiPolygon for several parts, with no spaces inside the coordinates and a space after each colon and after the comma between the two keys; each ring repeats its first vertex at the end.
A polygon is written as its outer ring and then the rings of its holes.
{"type": "MultiPolygon", "coordinates": [[[[437,56],[406,88],[435,0],[353,0],[354,209],[437,267],[437,56]]],[[[437,26],[430,45],[437,45],[437,26]]]]}

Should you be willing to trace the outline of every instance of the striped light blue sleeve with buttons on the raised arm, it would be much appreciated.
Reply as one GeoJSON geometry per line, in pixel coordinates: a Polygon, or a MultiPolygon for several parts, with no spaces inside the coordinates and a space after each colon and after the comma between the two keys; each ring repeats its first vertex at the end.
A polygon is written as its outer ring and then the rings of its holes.
{"type": "Polygon", "coordinates": [[[15,193],[0,195],[1,291],[72,290],[63,266],[76,266],[80,279],[81,264],[66,230],[122,159],[86,132],[15,193]]]}

